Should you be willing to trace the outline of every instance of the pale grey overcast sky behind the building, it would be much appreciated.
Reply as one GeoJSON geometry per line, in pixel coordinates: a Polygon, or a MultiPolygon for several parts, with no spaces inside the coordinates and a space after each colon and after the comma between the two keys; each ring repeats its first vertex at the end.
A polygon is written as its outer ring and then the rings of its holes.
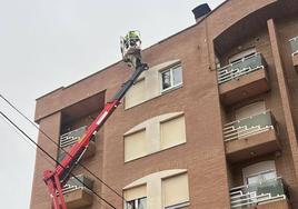
{"type": "MultiPolygon", "coordinates": [[[[33,119],[36,98],[118,61],[127,31],[146,48],[193,24],[195,7],[222,1],[0,0],[0,93],[33,119]]],[[[0,111],[37,139],[1,99],[0,111]]],[[[1,208],[27,209],[36,151],[1,118],[0,131],[1,208]]]]}

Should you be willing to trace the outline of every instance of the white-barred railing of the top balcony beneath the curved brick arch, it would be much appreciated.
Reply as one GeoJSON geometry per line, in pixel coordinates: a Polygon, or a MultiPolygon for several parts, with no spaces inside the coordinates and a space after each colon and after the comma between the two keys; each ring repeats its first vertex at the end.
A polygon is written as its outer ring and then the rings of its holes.
{"type": "Polygon", "coordinates": [[[252,56],[242,58],[237,62],[232,62],[229,66],[218,69],[218,84],[237,79],[252,71],[265,69],[265,67],[266,61],[260,53],[255,53],[252,56]]]}

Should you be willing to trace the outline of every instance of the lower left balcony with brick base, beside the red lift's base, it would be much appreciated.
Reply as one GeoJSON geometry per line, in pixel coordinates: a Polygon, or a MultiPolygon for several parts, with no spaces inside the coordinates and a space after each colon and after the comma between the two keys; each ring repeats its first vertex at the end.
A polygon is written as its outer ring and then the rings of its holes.
{"type": "Polygon", "coordinates": [[[91,206],[93,201],[92,192],[85,187],[86,185],[90,189],[93,189],[93,181],[82,175],[77,176],[77,178],[83,183],[72,177],[62,189],[69,209],[91,206]]]}

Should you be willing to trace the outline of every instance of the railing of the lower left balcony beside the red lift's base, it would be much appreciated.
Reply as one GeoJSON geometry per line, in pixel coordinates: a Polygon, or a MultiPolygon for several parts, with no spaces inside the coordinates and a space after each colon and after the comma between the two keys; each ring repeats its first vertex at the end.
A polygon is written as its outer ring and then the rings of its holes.
{"type": "Polygon", "coordinates": [[[90,193],[91,193],[91,191],[90,191],[87,187],[85,187],[85,185],[88,186],[90,189],[92,189],[92,188],[93,188],[93,181],[90,180],[90,179],[88,179],[88,178],[86,178],[86,177],[82,176],[82,175],[77,176],[77,178],[78,178],[81,182],[80,182],[79,180],[77,180],[76,178],[71,177],[71,178],[68,180],[67,185],[64,185],[64,187],[62,188],[62,192],[63,192],[63,195],[69,193],[69,192],[72,192],[72,191],[76,191],[76,190],[79,190],[79,189],[83,189],[83,190],[86,190],[87,192],[90,192],[90,193]],[[82,182],[83,182],[85,185],[83,185],[82,182]]]}

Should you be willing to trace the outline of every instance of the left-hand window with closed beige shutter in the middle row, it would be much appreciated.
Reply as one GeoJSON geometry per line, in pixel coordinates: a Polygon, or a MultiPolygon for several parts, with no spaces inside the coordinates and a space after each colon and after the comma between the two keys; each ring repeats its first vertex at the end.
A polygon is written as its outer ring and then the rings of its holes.
{"type": "Polygon", "coordinates": [[[125,161],[147,155],[146,129],[125,136],[125,161]]]}

